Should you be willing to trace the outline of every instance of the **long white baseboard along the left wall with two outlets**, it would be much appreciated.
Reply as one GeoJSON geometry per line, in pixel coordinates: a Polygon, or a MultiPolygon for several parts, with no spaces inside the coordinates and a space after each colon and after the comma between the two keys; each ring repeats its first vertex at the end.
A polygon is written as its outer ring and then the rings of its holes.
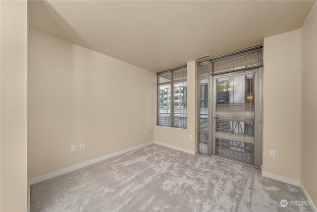
{"type": "Polygon", "coordinates": [[[65,173],[74,171],[74,170],[76,170],[76,169],[83,168],[83,167],[85,167],[85,166],[89,166],[89,165],[91,165],[91,164],[94,164],[94,163],[97,163],[97,162],[106,160],[106,159],[111,158],[111,157],[115,157],[115,156],[120,155],[120,154],[124,154],[124,153],[129,152],[129,151],[133,151],[133,150],[138,149],[138,148],[142,148],[142,147],[147,146],[147,145],[150,145],[150,144],[152,144],[152,143],[154,143],[154,141],[150,141],[150,142],[147,142],[147,143],[144,143],[144,144],[141,144],[141,145],[133,146],[133,147],[131,147],[131,148],[124,149],[124,150],[122,150],[122,151],[114,152],[114,153],[112,153],[112,154],[108,154],[108,155],[103,156],[103,157],[100,157],[100,158],[96,158],[96,159],[93,159],[93,160],[89,160],[89,161],[87,161],[87,162],[84,162],[84,163],[81,163],[81,164],[78,164],[78,165],[74,165],[74,166],[71,166],[71,167],[68,167],[68,168],[65,168],[65,169],[61,169],[61,170],[52,172],[52,173],[50,173],[50,174],[46,174],[46,175],[43,175],[43,176],[40,176],[40,177],[33,178],[33,179],[30,180],[30,185],[33,185],[33,184],[35,184],[35,183],[42,182],[42,181],[44,181],[44,180],[51,179],[51,178],[53,178],[53,177],[56,177],[56,176],[58,176],[58,175],[61,175],[61,174],[65,174],[65,173]]]}

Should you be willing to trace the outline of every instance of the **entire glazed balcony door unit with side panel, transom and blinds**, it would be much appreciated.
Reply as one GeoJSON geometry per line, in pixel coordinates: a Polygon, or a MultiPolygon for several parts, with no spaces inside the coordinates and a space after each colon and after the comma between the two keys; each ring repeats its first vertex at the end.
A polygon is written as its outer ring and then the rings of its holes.
{"type": "Polygon", "coordinates": [[[197,150],[260,168],[263,46],[197,62],[197,150]]]}

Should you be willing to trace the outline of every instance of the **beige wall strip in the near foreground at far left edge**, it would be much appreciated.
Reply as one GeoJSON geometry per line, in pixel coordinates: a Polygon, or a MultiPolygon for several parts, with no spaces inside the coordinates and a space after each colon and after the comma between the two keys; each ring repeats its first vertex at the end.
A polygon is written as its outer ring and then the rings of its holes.
{"type": "Polygon", "coordinates": [[[27,1],[0,5],[0,211],[26,211],[27,1]]]}

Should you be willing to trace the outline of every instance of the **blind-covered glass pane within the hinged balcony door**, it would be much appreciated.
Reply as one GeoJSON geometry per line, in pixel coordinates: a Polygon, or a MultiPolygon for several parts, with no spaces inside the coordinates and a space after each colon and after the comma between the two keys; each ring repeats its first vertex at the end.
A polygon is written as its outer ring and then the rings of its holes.
{"type": "Polygon", "coordinates": [[[213,155],[255,165],[254,71],[213,75],[213,155]]]}

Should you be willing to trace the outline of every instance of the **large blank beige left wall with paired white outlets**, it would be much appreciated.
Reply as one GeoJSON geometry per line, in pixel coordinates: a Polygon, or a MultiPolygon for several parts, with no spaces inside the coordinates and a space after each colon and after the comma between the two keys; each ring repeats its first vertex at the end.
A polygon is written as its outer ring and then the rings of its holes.
{"type": "Polygon", "coordinates": [[[153,141],[156,73],[33,29],[28,56],[29,179],[153,141]]]}

